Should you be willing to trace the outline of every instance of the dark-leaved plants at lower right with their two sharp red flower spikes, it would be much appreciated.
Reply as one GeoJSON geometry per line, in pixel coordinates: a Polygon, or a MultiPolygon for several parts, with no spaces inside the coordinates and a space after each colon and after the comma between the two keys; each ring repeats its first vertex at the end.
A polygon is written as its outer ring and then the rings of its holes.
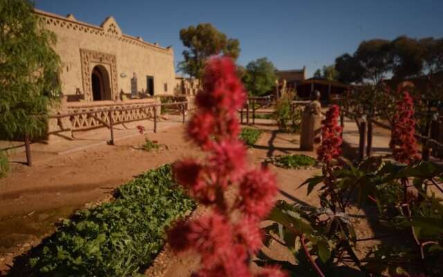
{"type": "MultiPolygon", "coordinates": [[[[409,98],[397,107],[396,122],[413,122],[409,98]]],[[[312,276],[313,271],[317,276],[385,276],[386,271],[390,276],[406,271],[440,276],[442,260],[437,257],[443,257],[443,229],[437,225],[443,224],[443,200],[426,193],[426,188],[434,185],[443,193],[436,181],[443,175],[443,168],[423,162],[398,165],[382,157],[370,157],[356,164],[346,161],[341,157],[339,112],[337,106],[331,106],[322,121],[323,140],[317,150],[318,161],[323,163],[322,174],[301,185],[307,186],[308,195],[320,185],[317,193],[321,207],[279,201],[269,215],[275,223],[266,227],[266,238],[272,240],[277,235],[279,242],[292,250],[299,245],[295,249],[298,265],[282,266],[300,276],[312,276]],[[409,179],[414,180],[413,186],[408,185],[409,179]],[[420,196],[410,197],[410,187],[415,187],[420,196]],[[355,221],[349,212],[352,206],[368,208],[368,204],[374,203],[379,209],[377,221],[386,225],[386,233],[392,232],[388,237],[399,237],[403,243],[374,241],[374,249],[366,251],[361,259],[356,255],[356,251],[362,251],[358,242],[379,238],[357,238],[355,221]]],[[[410,139],[413,130],[408,124],[397,126],[395,132],[401,136],[397,136],[395,149],[399,145],[404,149],[395,151],[396,157],[405,159],[407,152],[407,161],[417,159],[414,148],[410,148],[415,145],[410,139]]]]}

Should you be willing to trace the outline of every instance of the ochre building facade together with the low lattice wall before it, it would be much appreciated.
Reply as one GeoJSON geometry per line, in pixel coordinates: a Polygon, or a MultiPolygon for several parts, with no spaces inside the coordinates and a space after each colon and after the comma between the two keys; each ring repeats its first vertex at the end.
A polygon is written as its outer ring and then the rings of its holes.
{"type": "MultiPolygon", "coordinates": [[[[109,114],[100,110],[142,107],[174,95],[192,98],[197,92],[196,82],[176,78],[172,46],[125,35],[114,17],[94,26],[73,15],[62,17],[42,10],[35,10],[35,15],[57,37],[53,48],[61,60],[62,104],[54,113],[98,111],[51,119],[49,134],[103,126],[100,121],[109,123],[109,114]]],[[[114,122],[129,122],[152,117],[152,112],[113,111],[112,116],[114,122]]]]}

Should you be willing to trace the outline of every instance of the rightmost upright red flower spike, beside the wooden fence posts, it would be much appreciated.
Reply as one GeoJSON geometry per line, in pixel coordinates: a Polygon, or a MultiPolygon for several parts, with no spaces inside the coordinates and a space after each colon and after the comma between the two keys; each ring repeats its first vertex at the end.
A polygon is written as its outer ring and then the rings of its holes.
{"type": "Polygon", "coordinates": [[[415,140],[414,103],[407,91],[397,101],[397,112],[393,119],[393,128],[389,147],[392,156],[399,163],[411,163],[419,160],[417,141],[415,140]]]}

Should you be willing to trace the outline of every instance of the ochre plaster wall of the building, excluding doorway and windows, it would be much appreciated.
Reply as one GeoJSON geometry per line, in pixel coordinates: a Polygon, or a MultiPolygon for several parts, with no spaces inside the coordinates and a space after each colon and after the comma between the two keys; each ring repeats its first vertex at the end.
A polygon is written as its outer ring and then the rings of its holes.
{"type": "MultiPolygon", "coordinates": [[[[43,19],[44,27],[57,35],[57,44],[54,48],[62,61],[60,80],[64,95],[74,95],[76,90],[80,89],[80,93],[85,95],[85,100],[91,100],[87,97],[91,95],[90,86],[89,91],[84,91],[84,78],[91,78],[93,66],[100,64],[100,61],[94,60],[89,64],[82,64],[80,49],[115,57],[116,72],[108,72],[112,82],[116,82],[116,86],[110,84],[114,100],[120,98],[121,90],[131,93],[131,79],[134,73],[137,76],[138,92],[146,91],[146,76],[149,75],[154,76],[154,94],[174,93],[172,47],[163,48],[124,35],[112,17],[108,17],[101,26],[93,26],[76,21],[71,15],[60,17],[40,10],[35,10],[35,13],[43,19]],[[82,66],[90,72],[82,72],[82,66]],[[168,91],[164,90],[165,84],[168,85],[168,91]]],[[[111,71],[112,66],[106,62],[105,60],[103,65],[111,71]]]]}

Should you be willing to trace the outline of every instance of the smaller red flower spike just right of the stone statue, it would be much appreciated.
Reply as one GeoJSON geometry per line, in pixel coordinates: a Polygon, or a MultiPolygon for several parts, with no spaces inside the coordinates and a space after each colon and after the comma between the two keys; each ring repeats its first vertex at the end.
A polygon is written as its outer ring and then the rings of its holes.
{"type": "Polygon", "coordinates": [[[328,164],[341,155],[340,146],[343,139],[340,134],[343,128],[338,125],[338,116],[340,116],[340,107],[332,105],[326,112],[326,118],[321,122],[322,141],[317,149],[317,159],[323,163],[328,164]]]}

